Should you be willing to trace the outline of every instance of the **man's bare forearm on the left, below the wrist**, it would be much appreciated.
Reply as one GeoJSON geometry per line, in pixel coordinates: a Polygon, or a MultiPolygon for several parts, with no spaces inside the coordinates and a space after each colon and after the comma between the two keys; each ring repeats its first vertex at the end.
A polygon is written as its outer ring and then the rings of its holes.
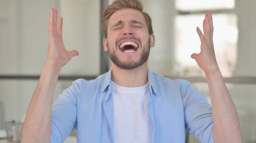
{"type": "Polygon", "coordinates": [[[28,107],[23,127],[23,143],[50,142],[51,108],[60,68],[45,64],[28,107]]]}

